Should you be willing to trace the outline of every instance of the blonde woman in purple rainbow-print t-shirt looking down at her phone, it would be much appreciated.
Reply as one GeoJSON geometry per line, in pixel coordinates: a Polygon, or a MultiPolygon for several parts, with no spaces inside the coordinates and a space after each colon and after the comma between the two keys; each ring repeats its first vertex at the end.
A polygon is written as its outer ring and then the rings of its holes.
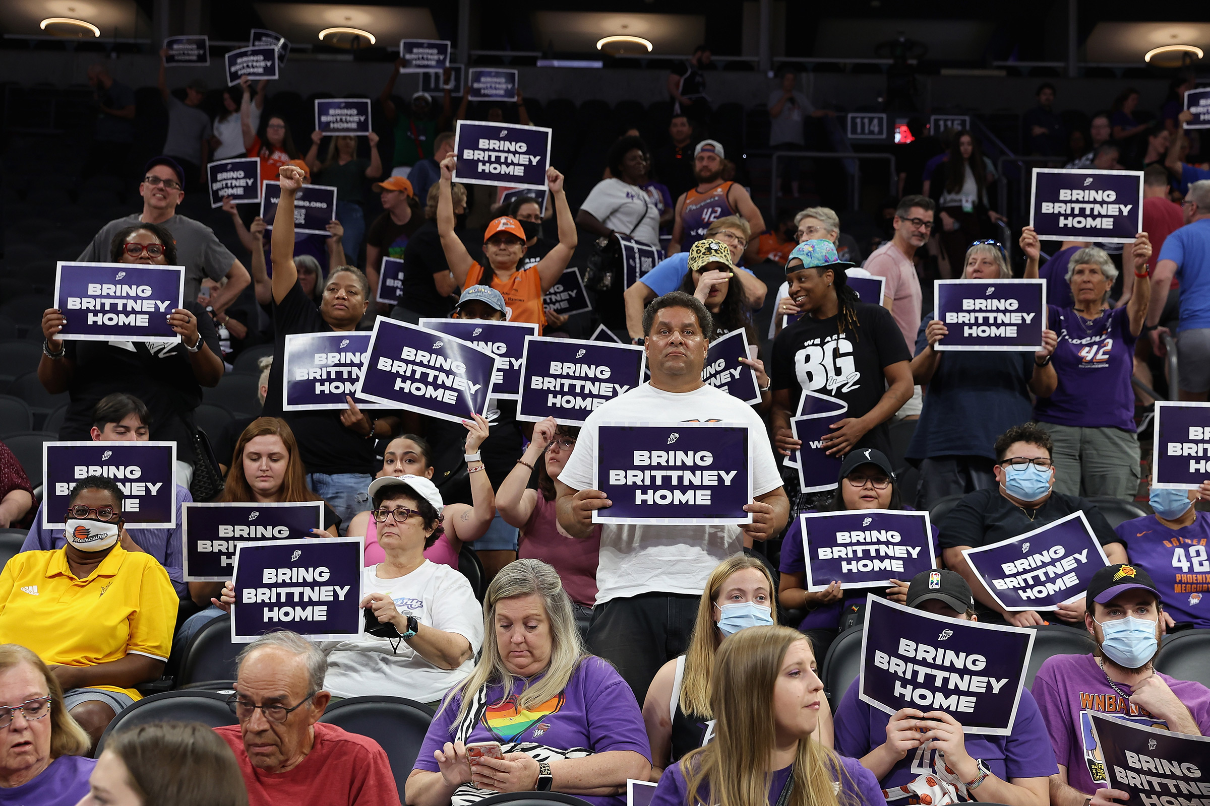
{"type": "Polygon", "coordinates": [[[626,680],[588,655],[571,599],[537,559],[506,566],[484,599],[483,655],[428,726],[408,776],[411,806],[460,806],[501,791],[561,791],[626,804],[651,772],[643,715],[626,680]],[[467,744],[499,742],[503,760],[467,744]]]}

